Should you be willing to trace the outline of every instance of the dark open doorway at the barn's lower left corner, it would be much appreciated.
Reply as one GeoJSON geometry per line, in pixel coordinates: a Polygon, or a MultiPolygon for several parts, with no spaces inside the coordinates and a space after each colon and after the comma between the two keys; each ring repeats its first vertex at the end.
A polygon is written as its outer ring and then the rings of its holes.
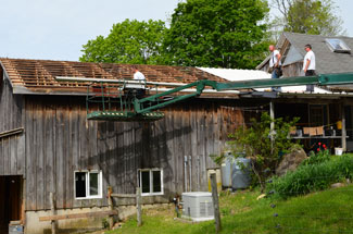
{"type": "Polygon", "coordinates": [[[10,221],[22,220],[22,175],[0,176],[0,234],[9,233],[10,221]]]}

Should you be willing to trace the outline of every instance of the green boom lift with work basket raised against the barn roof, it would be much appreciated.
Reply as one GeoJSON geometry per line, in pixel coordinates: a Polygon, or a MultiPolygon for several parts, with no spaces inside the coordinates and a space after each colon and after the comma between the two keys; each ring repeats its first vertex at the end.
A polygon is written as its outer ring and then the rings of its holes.
{"type": "MultiPolygon", "coordinates": [[[[217,91],[237,90],[244,88],[283,87],[299,85],[345,85],[353,84],[353,73],[322,74],[317,76],[283,77],[278,79],[251,79],[230,83],[217,83],[202,79],[187,85],[179,85],[168,90],[159,91],[159,85],[169,83],[140,83],[137,81],[94,79],[77,77],[56,77],[62,82],[89,82],[87,87],[87,119],[111,121],[155,121],[164,118],[157,111],[168,104],[200,96],[205,87],[217,91]],[[129,85],[131,85],[129,87],[129,85]],[[135,85],[135,87],[134,87],[135,85]],[[137,85],[137,86],[136,86],[137,85]],[[154,95],[139,95],[144,85],[154,85],[154,95]],[[176,93],[193,88],[186,95],[173,96],[176,93]]],[[[176,84],[175,84],[176,86],[176,84]]]]}

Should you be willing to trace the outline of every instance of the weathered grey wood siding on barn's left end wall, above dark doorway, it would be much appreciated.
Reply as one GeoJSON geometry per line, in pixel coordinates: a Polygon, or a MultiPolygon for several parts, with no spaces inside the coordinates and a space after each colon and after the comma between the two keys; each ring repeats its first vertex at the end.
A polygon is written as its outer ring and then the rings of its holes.
{"type": "MultiPolygon", "coordinates": [[[[23,97],[12,94],[11,84],[0,70],[0,133],[22,127],[23,97]]],[[[0,175],[21,175],[25,171],[24,134],[0,137],[0,175]]]]}

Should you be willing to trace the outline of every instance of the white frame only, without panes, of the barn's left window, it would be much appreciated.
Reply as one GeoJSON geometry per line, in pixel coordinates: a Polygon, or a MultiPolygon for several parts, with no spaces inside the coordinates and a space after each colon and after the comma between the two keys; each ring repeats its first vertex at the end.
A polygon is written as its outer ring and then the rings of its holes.
{"type": "Polygon", "coordinates": [[[103,198],[103,180],[102,180],[102,171],[99,170],[81,170],[81,171],[74,171],[74,196],[76,200],[83,199],[97,199],[103,198]],[[85,173],[86,176],[86,197],[76,197],[76,173],[85,173]],[[98,173],[98,195],[90,195],[89,194],[89,176],[90,173],[98,173]]]}

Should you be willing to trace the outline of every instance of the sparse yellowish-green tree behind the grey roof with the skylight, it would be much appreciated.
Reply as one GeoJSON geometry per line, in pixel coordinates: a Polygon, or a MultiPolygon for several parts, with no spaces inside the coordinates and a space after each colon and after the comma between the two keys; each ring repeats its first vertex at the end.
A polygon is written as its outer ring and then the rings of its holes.
{"type": "Polygon", "coordinates": [[[335,14],[333,0],[273,0],[286,32],[335,36],[345,34],[342,20],[335,14]]]}

